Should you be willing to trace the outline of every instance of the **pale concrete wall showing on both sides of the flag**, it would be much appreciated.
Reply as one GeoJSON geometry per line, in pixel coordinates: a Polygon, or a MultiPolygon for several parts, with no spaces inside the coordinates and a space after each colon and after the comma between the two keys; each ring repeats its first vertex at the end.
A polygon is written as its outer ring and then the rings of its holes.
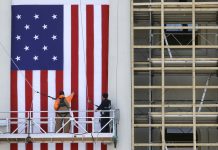
{"type": "MultiPolygon", "coordinates": [[[[10,110],[11,0],[0,0],[0,111],[10,110]],[[2,47],[4,46],[4,48],[2,47]]],[[[120,109],[118,150],[131,145],[130,1],[110,1],[109,98],[120,109]]],[[[9,149],[9,144],[0,144],[9,149]]],[[[114,149],[109,145],[109,149],[114,149]]]]}

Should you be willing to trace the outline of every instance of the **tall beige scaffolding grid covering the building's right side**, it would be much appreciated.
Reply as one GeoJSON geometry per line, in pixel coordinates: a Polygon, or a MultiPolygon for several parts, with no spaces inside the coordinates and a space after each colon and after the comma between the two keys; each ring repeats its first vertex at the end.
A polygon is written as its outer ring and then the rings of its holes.
{"type": "Polygon", "coordinates": [[[132,149],[218,150],[218,1],[132,0],[131,12],[132,149]]]}

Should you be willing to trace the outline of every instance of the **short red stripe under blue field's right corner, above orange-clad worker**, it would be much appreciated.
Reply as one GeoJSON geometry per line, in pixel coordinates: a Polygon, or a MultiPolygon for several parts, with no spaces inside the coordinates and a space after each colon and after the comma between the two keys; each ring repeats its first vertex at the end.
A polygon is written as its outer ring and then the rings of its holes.
{"type": "MultiPolygon", "coordinates": [[[[63,71],[56,71],[56,97],[63,90],[63,71]]],[[[56,143],[56,150],[63,150],[63,143],[56,143]]]]}

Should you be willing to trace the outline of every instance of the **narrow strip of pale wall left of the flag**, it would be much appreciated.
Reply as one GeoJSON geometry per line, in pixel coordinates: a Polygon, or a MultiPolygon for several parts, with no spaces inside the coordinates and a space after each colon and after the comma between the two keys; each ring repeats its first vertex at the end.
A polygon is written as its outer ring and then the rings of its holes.
{"type": "MultiPolygon", "coordinates": [[[[11,0],[0,0],[0,111],[10,110],[11,0]]],[[[0,144],[9,149],[9,144],[0,144]]]]}

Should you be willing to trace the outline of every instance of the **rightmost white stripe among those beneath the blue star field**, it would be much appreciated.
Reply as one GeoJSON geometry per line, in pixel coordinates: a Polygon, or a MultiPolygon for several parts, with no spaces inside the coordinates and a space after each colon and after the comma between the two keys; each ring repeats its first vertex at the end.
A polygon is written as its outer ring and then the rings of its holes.
{"type": "MultiPolygon", "coordinates": [[[[56,96],[56,71],[48,71],[48,95],[56,96]]],[[[48,98],[48,117],[53,121],[48,123],[48,131],[54,132],[55,127],[55,113],[54,113],[54,100],[48,98]],[[52,126],[52,128],[51,128],[52,126]]],[[[55,150],[55,143],[48,143],[48,150],[55,150]]]]}

